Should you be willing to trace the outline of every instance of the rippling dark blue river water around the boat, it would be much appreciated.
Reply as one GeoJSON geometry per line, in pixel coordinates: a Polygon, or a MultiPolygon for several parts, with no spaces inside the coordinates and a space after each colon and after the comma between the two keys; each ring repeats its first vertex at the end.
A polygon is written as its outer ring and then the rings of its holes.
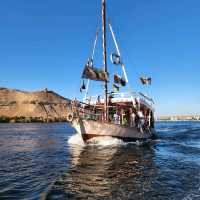
{"type": "Polygon", "coordinates": [[[200,123],[84,145],[66,123],[0,124],[0,199],[200,199],[200,123]]]}

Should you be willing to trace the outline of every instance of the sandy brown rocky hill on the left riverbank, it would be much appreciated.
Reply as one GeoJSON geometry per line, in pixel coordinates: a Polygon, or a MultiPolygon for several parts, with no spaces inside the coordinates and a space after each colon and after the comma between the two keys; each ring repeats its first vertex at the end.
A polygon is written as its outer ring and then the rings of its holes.
{"type": "Polygon", "coordinates": [[[0,88],[0,117],[4,120],[64,120],[69,107],[69,99],[47,89],[37,92],[25,92],[0,88]]]}

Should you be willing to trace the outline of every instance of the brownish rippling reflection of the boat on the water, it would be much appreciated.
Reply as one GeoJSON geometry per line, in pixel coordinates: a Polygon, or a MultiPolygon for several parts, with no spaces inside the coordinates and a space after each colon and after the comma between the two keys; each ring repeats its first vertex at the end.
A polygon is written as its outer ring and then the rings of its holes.
{"type": "Polygon", "coordinates": [[[71,167],[49,191],[47,199],[134,197],[148,190],[156,166],[148,145],[71,148],[71,167]]]}

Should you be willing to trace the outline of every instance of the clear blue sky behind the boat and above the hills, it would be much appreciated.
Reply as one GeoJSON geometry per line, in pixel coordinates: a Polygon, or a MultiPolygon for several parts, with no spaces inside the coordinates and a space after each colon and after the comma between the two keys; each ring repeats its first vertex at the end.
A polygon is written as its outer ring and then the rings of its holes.
{"type": "MultiPolygon", "coordinates": [[[[200,1],[107,2],[133,88],[154,97],[157,115],[200,113],[200,1]]],[[[1,1],[0,86],[80,95],[99,16],[100,0],[1,1]]]]}

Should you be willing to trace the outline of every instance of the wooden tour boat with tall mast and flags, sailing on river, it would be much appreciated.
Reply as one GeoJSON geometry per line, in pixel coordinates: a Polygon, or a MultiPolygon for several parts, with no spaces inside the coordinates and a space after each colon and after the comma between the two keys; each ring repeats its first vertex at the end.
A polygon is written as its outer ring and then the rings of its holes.
{"type": "MultiPolygon", "coordinates": [[[[71,113],[68,114],[67,119],[85,142],[95,137],[106,138],[105,136],[123,141],[148,140],[155,136],[154,101],[146,94],[133,91],[130,86],[115,33],[111,23],[107,23],[106,3],[106,0],[101,2],[103,68],[96,68],[93,64],[99,35],[98,29],[92,54],[87,60],[81,76],[83,84],[80,91],[85,91],[84,99],[82,101],[72,100],[71,113]],[[117,68],[121,70],[121,74],[113,74],[113,80],[108,70],[108,30],[115,47],[115,53],[110,55],[111,64],[117,65],[117,68]],[[88,96],[88,87],[91,82],[103,83],[103,95],[88,96]],[[112,89],[110,89],[111,85],[112,89]]],[[[149,77],[140,77],[140,81],[143,85],[151,84],[149,77]]]]}

